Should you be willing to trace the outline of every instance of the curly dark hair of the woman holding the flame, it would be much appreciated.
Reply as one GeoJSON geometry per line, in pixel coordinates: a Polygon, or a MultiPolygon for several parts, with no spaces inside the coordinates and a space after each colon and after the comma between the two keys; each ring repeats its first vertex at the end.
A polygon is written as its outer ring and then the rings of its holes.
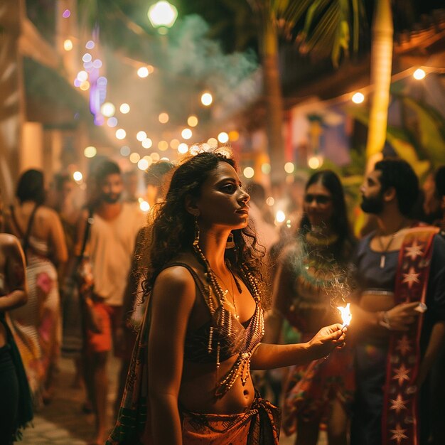
{"type": "MultiPolygon", "coordinates": [[[[148,230],[145,248],[141,257],[144,264],[144,297],[151,291],[154,280],[161,270],[178,256],[192,250],[195,236],[195,218],[186,210],[186,197],[199,198],[203,183],[218,163],[227,162],[237,169],[237,164],[223,153],[204,151],[183,161],[171,177],[170,186],[163,203],[156,204],[153,222],[148,230]]],[[[259,282],[263,282],[260,267],[264,251],[259,248],[257,237],[249,227],[232,230],[235,249],[226,250],[225,257],[234,272],[252,272],[259,282]]]]}

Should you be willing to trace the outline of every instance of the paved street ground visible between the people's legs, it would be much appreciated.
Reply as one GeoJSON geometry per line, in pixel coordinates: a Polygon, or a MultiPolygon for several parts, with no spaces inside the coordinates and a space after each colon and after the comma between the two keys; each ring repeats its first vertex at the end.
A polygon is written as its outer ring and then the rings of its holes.
{"type": "MultiPolygon", "coordinates": [[[[118,365],[112,359],[109,368],[109,422],[112,427],[112,405],[116,387],[118,365]]],[[[34,427],[28,428],[23,434],[23,445],[86,445],[92,438],[94,431],[94,417],[92,414],[82,413],[84,401],[83,390],[75,389],[71,385],[74,377],[74,366],[71,360],[60,360],[60,376],[58,390],[53,401],[37,412],[34,427]]],[[[318,445],[326,445],[326,435],[321,434],[318,445]]],[[[282,437],[280,445],[293,445],[294,437],[282,437]]]]}

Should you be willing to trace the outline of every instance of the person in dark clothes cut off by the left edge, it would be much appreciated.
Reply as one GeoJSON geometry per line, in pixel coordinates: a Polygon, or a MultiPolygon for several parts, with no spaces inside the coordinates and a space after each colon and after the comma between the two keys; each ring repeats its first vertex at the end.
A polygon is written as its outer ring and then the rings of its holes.
{"type": "Polygon", "coordinates": [[[0,226],[0,444],[10,445],[33,418],[26,373],[6,323],[8,311],[26,304],[28,295],[20,243],[2,233],[1,220],[0,226]]]}

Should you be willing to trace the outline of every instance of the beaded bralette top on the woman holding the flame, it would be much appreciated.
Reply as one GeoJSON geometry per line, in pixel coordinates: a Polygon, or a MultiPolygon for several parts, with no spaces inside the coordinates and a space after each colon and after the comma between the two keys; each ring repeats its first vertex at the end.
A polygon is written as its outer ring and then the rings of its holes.
{"type": "Polygon", "coordinates": [[[223,301],[215,298],[212,286],[203,282],[190,265],[182,262],[168,264],[168,267],[173,266],[185,267],[191,273],[211,316],[210,321],[186,334],[184,360],[193,363],[213,362],[219,368],[221,362],[233,355],[238,356],[232,368],[217,384],[215,396],[222,397],[230,390],[238,377],[241,378],[243,385],[247,382],[250,376],[250,357],[264,335],[264,318],[256,279],[252,274],[242,277],[255,300],[255,311],[248,321],[240,323],[230,311],[225,309],[223,301]]]}

